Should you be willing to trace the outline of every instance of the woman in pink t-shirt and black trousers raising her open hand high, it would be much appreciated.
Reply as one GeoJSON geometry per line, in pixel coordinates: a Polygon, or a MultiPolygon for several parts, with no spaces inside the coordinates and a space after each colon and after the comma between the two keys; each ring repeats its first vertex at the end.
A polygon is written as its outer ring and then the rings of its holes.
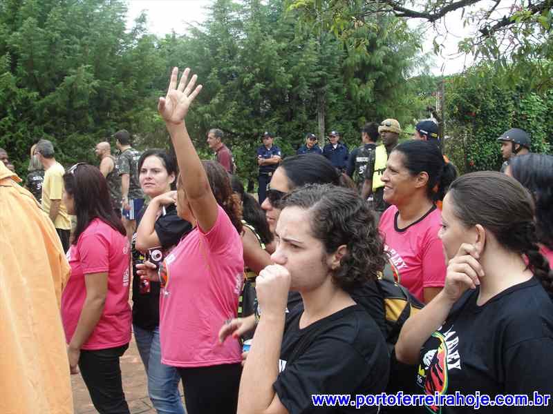
{"type": "MultiPolygon", "coordinates": [[[[171,73],[158,110],[175,148],[181,174],[177,213],[193,230],[160,266],[162,363],[182,377],[189,414],[236,413],[241,348],[236,339],[218,344],[221,324],[236,317],[243,277],[241,210],[227,172],[214,161],[200,161],[185,118],[201,90],[187,68],[178,82],[171,73]]],[[[138,265],[139,275],[155,279],[155,266],[138,265]]]]}

